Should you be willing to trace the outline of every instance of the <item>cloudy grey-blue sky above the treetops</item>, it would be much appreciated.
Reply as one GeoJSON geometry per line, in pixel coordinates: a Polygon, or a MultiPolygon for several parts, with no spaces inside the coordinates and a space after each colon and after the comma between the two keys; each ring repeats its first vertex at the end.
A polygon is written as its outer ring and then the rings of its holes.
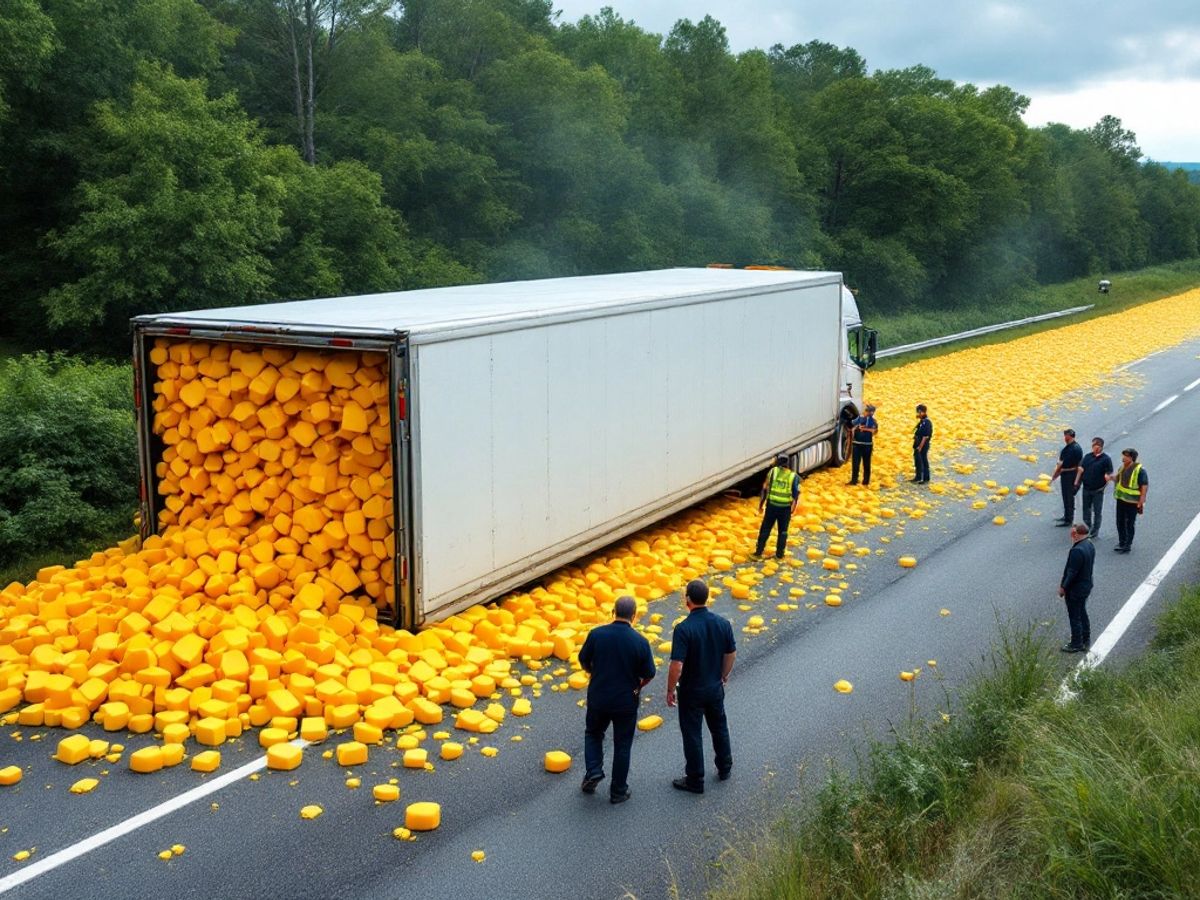
{"type": "Polygon", "coordinates": [[[943,78],[1007,84],[1026,121],[1075,128],[1115,115],[1146,156],[1200,162],[1200,0],[556,0],[560,22],[612,6],[666,35],[713,16],[742,52],[812,40],[868,67],[922,64],[943,78]]]}

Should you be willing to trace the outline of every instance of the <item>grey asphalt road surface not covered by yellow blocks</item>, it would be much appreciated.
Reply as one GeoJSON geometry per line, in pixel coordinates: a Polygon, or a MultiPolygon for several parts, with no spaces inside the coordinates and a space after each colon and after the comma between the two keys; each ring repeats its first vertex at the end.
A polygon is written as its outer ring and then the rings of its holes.
{"type": "MultiPolygon", "coordinates": [[[[1074,397],[1042,410],[1048,437],[1038,444],[1037,464],[1010,454],[986,455],[970,478],[950,475],[1015,485],[1050,472],[1060,424],[1075,427],[1085,448],[1094,433],[1108,438],[1114,457],[1130,444],[1142,451],[1151,491],[1134,552],[1110,551],[1111,497],[1097,541],[1097,588],[1088,604],[1093,640],[1200,511],[1200,454],[1192,449],[1200,434],[1198,354],[1200,342],[1154,355],[1135,365],[1136,377],[1122,379],[1106,398],[1074,397]]],[[[936,480],[942,462],[936,445],[934,461],[936,480]]],[[[920,490],[898,488],[890,503],[906,505],[920,490]]],[[[92,835],[257,758],[257,746],[235,742],[223,748],[215,775],[190,772],[186,763],[160,775],[134,775],[125,761],[65,767],[49,758],[64,732],[12,726],[0,733],[0,767],[28,768],[18,787],[0,788],[0,890],[6,877],[74,848],[83,852],[12,888],[13,895],[602,900],[661,898],[673,887],[680,896],[697,896],[720,872],[726,848],[745,850],[748,839],[781,814],[782,799],[821,780],[828,760],[852,760],[868,736],[886,736],[910,715],[936,716],[952,708],[955,689],[995,641],[998,623],[1044,624],[1055,643],[1066,637],[1066,614],[1055,593],[1068,550],[1067,529],[1052,527],[1060,503],[1057,490],[1010,496],[978,511],[947,499],[890,544],[878,539],[892,535],[894,524],[862,535],[887,553],[854,560],[860,569],[842,607],[802,607],[762,635],[739,634],[727,689],[734,775],[710,781],[702,797],[671,788],[683,757],[674,713],[662,702],[661,670],[648,689],[646,712],[662,713],[666,722],[637,736],[634,797],[618,806],[607,803],[606,786],[592,797],[578,791],[583,714],[576,701],[582,695],[547,691],[533,716],[510,719],[484,740],[499,748],[494,758],[469,752],[438,762],[434,773],[413,773],[395,767],[395,750],[373,749],[370,763],[349,773],[319,758],[328,748],[312,748],[296,772],[238,779],[89,850],[92,835]],[[1007,516],[1007,526],[991,523],[997,512],[1007,516]],[[918,566],[898,568],[901,553],[917,556],[918,566]],[[950,614],[942,616],[943,608],[950,614]],[[936,668],[928,666],[931,659],[936,668]],[[913,666],[923,667],[922,676],[900,682],[899,671],[913,666]],[[832,689],[839,678],[854,684],[853,694],[832,689]],[[514,734],[522,740],[512,742],[514,734]],[[576,757],[570,773],[542,770],[548,749],[576,757]],[[68,793],[73,781],[101,770],[109,774],[96,791],[68,793]],[[360,776],[362,786],[346,787],[348,774],[360,776]],[[374,804],[371,785],[389,778],[400,780],[400,803],[374,804]],[[418,799],[442,804],[443,826],[413,841],[395,840],[391,833],[403,823],[404,804],[418,799]],[[300,808],[311,803],[324,814],[301,821],[300,808]],[[175,844],[186,851],[169,862],[157,858],[175,844]],[[36,850],[29,860],[12,859],[30,848],[36,850]],[[484,862],[472,860],[475,850],[486,853],[484,862]]],[[[1198,576],[1200,541],[1104,665],[1121,665],[1144,649],[1154,616],[1198,576]]],[[[773,607],[764,606],[768,614],[773,607]]],[[[714,607],[733,612],[727,594],[714,607]]],[[[734,619],[744,616],[734,613],[734,619]]],[[[1063,671],[1078,659],[1063,658],[1063,671]]],[[[145,736],[104,737],[118,737],[130,749],[149,743],[145,736]]]]}

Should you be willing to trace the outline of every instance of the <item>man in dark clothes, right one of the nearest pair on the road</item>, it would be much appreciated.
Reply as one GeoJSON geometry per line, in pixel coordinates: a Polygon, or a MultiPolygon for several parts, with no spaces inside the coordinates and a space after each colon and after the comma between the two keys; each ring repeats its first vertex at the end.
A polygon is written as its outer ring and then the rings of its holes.
{"type": "Polygon", "coordinates": [[[679,690],[679,731],[683,733],[684,778],[671,784],[680,791],[704,793],[704,736],[713,738],[716,776],[725,781],[733,768],[730,727],[725,721],[725,683],[733,668],[737,646],[730,620],[708,608],[708,586],[700,578],[688,582],[688,618],[671,637],[667,670],[667,706],[676,706],[679,690]]]}

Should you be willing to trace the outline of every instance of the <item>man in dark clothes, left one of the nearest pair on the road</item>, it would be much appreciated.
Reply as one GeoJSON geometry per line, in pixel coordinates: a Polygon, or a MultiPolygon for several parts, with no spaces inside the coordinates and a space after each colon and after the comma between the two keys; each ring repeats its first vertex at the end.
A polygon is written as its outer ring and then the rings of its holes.
{"type": "Polygon", "coordinates": [[[595,793],[604,780],[604,736],[612,722],[612,782],[608,800],[624,803],[630,797],[626,778],[629,756],[637,724],[637,701],[642,688],[654,678],[650,644],[634,631],[637,601],[617,599],[613,620],[588,632],[580,648],[580,665],[592,676],[588,682],[588,714],[583,731],[583,793],[595,793]]]}

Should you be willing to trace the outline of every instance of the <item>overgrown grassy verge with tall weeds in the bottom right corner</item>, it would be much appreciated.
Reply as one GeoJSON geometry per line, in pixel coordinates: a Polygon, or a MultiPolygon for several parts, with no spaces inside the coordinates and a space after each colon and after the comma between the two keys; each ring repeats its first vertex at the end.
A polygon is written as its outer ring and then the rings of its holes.
{"type": "Polygon", "coordinates": [[[857,774],[834,769],[728,852],[710,896],[1196,896],[1200,588],[1066,706],[1061,670],[1034,631],[1003,630],[949,722],[914,716],[857,774]]]}

